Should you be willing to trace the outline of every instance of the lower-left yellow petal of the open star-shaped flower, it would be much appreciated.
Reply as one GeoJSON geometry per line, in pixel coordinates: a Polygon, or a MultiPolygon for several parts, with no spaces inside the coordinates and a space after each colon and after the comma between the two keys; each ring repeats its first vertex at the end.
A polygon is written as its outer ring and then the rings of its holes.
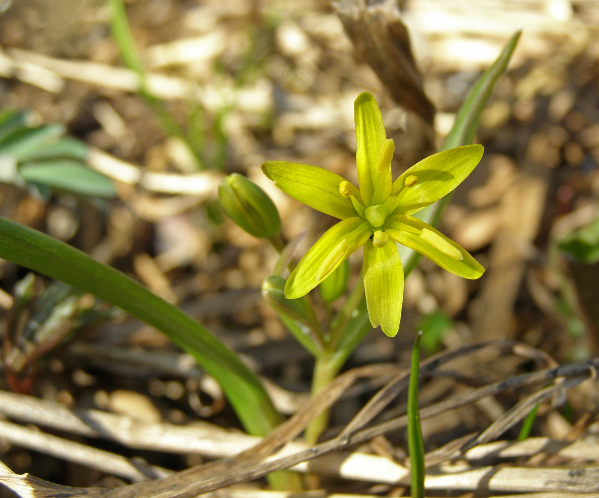
{"type": "MultiPolygon", "coordinates": [[[[344,239],[347,242],[345,250],[338,254],[338,258],[332,262],[329,268],[329,274],[334,272],[341,263],[343,263],[350,254],[360,247],[370,236],[370,227],[359,229],[365,223],[357,216],[347,218],[335,224],[316,241],[304,257],[295,267],[295,270],[289,275],[287,285],[285,286],[285,295],[289,299],[297,299],[297,297],[305,296],[320,281],[316,279],[316,273],[319,271],[320,265],[325,261],[326,257],[331,254],[341,241],[344,239]],[[358,233],[356,233],[358,232],[358,233]]],[[[326,278],[326,277],[325,277],[326,278]]],[[[322,279],[323,280],[323,279],[322,279]]]]}

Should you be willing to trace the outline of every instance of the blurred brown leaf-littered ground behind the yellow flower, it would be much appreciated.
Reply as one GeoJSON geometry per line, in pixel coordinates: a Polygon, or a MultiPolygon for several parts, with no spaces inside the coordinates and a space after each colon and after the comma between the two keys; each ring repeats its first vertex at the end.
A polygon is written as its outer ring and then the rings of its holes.
{"type": "MultiPolygon", "coordinates": [[[[106,2],[3,2],[0,110],[22,111],[31,127],[61,123],[60,133],[92,148],[88,165],[110,186],[106,195],[88,195],[81,186],[37,177],[27,165],[19,166],[18,180],[0,150],[1,215],[116,266],[182,306],[283,388],[292,412],[309,390],[312,360],[262,302],[259,287],[276,253],[220,212],[219,178],[241,172],[267,190],[285,238],[307,230],[302,254],[334,219],[274,189],[261,163],[313,164],[357,183],[353,100],[367,91],[395,140],[397,175],[435,151],[468,90],[522,28],[482,114],[475,139],[485,146],[482,162],[456,191],[440,228],[485,266],[485,275],[463,280],[422,259],[406,281],[398,336],[373,331],[349,366],[406,364],[418,329],[430,338],[428,354],[489,339],[517,339],[561,363],[599,352],[599,2],[125,5],[153,104],[123,66],[106,2]],[[400,79],[384,55],[356,45],[356,26],[371,7],[406,28],[394,32],[403,41],[400,79]]],[[[361,260],[361,253],[351,259],[353,278],[361,260]]],[[[26,275],[0,261],[5,337],[16,327],[15,286],[26,284],[37,296],[53,289],[48,299],[58,292],[40,277],[23,284],[26,275]]],[[[343,298],[334,307],[342,304],[343,298]]],[[[79,296],[77,306],[93,315],[89,321],[31,339],[27,353],[5,341],[0,387],[144,420],[207,418],[231,426],[218,388],[165,336],[89,296],[79,296]],[[188,368],[175,371],[173,358],[188,368]]],[[[541,433],[571,430],[574,414],[594,403],[585,385],[544,419],[541,433]]],[[[340,403],[333,424],[347,422],[361,403],[359,396],[340,403]]],[[[480,403],[456,420],[425,421],[425,438],[488,424],[504,408],[480,403]]],[[[8,442],[0,451],[17,473],[71,485],[99,478],[8,442]]],[[[179,465],[192,460],[181,457],[179,465]]]]}

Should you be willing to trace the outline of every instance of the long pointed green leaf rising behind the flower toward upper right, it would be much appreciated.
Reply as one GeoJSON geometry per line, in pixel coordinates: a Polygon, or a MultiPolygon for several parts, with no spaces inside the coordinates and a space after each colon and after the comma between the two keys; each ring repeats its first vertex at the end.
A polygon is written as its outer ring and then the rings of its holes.
{"type": "MultiPolygon", "coordinates": [[[[516,44],[518,44],[520,34],[521,31],[516,31],[501,51],[499,57],[497,57],[491,67],[487,69],[476,84],[474,84],[464,103],[459,108],[455,124],[449,132],[449,135],[447,135],[443,141],[440,149],[441,151],[452,147],[459,147],[460,145],[471,144],[474,133],[476,133],[476,129],[479,126],[480,114],[491,97],[495,83],[497,83],[497,80],[506,70],[507,64],[510,62],[512,53],[516,48],[516,44]]],[[[451,194],[446,195],[443,199],[439,199],[429,207],[422,209],[422,211],[419,211],[418,214],[416,214],[416,217],[426,221],[426,223],[432,226],[437,226],[441,221],[441,215],[449,203],[451,196],[451,194]]],[[[407,278],[410,272],[416,268],[418,260],[420,259],[420,254],[404,246],[400,246],[399,250],[401,262],[404,266],[404,277],[407,278]]]]}

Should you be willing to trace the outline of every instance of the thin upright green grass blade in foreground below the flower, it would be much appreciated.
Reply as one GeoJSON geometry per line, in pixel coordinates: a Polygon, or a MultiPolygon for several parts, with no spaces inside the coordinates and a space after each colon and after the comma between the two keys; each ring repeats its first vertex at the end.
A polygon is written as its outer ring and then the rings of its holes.
{"type": "Polygon", "coordinates": [[[420,362],[420,339],[418,332],[412,350],[412,369],[408,387],[408,449],[410,451],[410,469],[412,473],[412,498],[424,498],[424,442],[420,428],[418,409],[418,366],[420,362]]]}

